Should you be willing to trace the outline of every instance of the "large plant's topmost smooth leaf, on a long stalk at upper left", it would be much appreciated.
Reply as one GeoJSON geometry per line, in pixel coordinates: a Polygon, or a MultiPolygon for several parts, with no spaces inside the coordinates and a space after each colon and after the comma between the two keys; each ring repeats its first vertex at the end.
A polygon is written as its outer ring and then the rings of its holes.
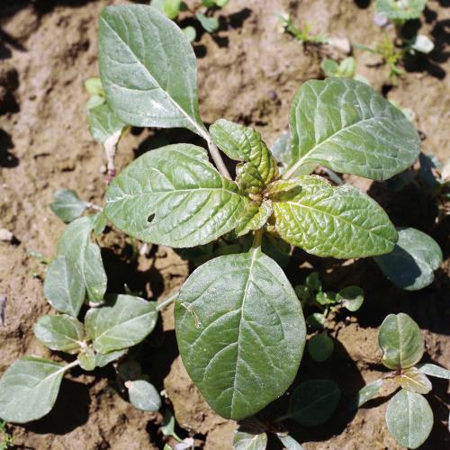
{"type": "Polygon", "coordinates": [[[204,135],[193,48],[157,9],[144,4],[103,8],[98,65],[106,99],[124,123],[204,135]]]}

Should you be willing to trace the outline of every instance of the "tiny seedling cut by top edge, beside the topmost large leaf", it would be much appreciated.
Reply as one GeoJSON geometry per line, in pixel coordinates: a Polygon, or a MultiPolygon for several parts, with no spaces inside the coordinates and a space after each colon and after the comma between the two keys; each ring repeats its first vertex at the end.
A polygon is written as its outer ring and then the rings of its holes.
{"type": "MultiPolygon", "coordinates": [[[[182,0],[151,0],[150,2],[151,6],[173,21],[176,21],[182,11],[189,11],[202,25],[202,29],[209,33],[219,30],[219,21],[217,17],[211,16],[212,11],[216,8],[224,8],[227,4],[229,0],[202,0],[198,6],[189,8],[182,0]]],[[[197,37],[197,31],[193,26],[185,27],[183,32],[190,42],[197,37]]]]}

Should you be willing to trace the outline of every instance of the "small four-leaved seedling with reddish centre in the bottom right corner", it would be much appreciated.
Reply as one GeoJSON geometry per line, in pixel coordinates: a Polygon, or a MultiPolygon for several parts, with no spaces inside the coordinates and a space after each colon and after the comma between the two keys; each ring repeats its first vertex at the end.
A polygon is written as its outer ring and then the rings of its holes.
{"type": "Polygon", "coordinates": [[[418,324],[407,314],[390,314],[383,321],[378,334],[383,351],[382,363],[393,372],[367,384],[359,393],[354,408],[373,399],[383,384],[393,383],[400,388],[388,403],[386,424],[395,440],[408,448],[418,448],[433,428],[433,411],[423,396],[431,392],[428,376],[450,380],[450,371],[433,364],[421,364],[424,339],[418,324]]]}

